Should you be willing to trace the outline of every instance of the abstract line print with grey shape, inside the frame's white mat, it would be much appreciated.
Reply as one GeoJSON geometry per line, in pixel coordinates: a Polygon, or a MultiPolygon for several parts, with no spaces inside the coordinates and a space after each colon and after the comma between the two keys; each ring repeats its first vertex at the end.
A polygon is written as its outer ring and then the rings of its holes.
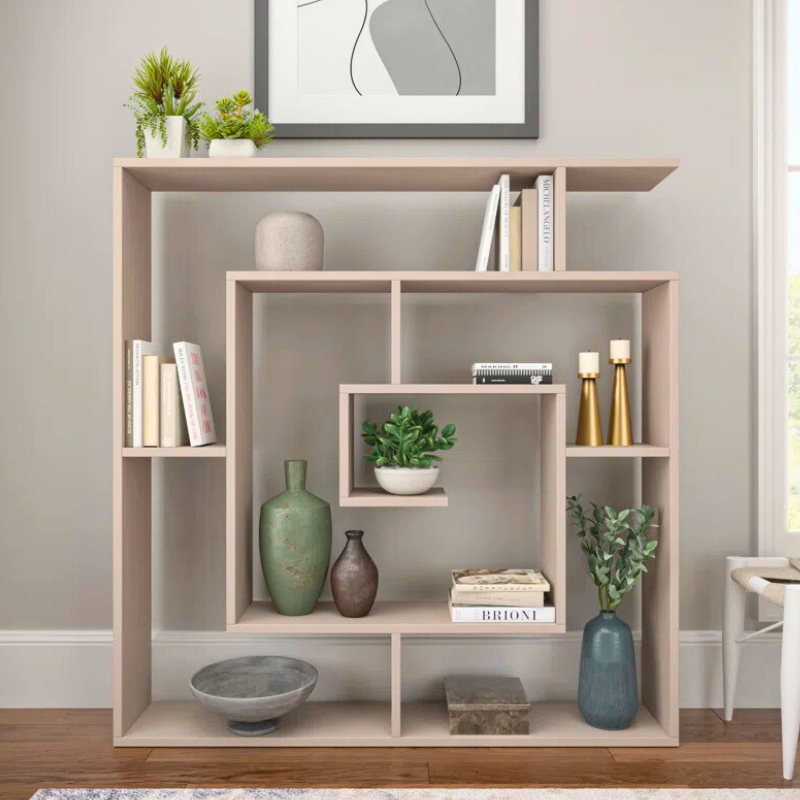
{"type": "Polygon", "coordinates": [[[298,2],[298,94],[495,95],[496,3],[298,2]]]}

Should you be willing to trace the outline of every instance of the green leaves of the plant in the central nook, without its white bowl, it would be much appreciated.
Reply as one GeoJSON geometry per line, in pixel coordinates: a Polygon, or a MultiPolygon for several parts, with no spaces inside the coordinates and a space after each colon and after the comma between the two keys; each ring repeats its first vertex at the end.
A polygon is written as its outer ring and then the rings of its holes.
{"type": "Polygon", "coordinates": [[[430,467],[442,460],[437,450],[451,450],[458,441],[455,425],[445,425],[440,434],[432,411],[420,414],[408,406],[398,406],[380,429],[371,420],[361,427],[361,438],[372,448],[364,458],[376,467],[430,467]]]}

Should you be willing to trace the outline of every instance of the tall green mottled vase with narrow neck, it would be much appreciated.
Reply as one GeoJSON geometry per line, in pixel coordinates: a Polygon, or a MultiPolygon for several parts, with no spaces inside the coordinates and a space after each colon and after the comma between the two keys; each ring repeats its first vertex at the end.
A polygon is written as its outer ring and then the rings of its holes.
{"type": "Polygon", "coordinates": [[[286,491],[261,506],[259,544],[267,589],[279,614],[317,605],[331,560],[331,507],[306,491],[307,461],[284,461],[286,491]]]}

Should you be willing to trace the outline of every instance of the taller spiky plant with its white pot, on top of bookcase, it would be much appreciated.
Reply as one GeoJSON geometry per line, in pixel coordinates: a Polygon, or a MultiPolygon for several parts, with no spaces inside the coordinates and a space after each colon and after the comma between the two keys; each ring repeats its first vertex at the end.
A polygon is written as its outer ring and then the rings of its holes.
{"type": "Polygon", "coordinates": [[[136,120],[136,155],[142,158],[186,158],[200,139],[195,115],[199,74],[187,59],[175,59],[162,48],[150,53],[133,73],[134,92],[126,106],[136,120]]]}

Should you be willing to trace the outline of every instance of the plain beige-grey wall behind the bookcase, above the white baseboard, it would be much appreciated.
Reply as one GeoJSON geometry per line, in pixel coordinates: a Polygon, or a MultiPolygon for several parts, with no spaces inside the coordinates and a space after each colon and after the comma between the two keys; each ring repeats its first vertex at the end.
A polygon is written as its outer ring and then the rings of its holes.
{"type": "MultiPolygon", "coordinates": [[[[269,154],[681,159],[651,195],[570,198],[569,267],[681,274],[681,620],[718,628],[722,557],[754,541],[750,4],[541,5],[537,141],[286,141],[269,154]],[[734,390],[723,394],[730,375],[734,390]]],[[[134,152],[121,103],[137,59],[165,42],[201,68],[206,100],[249,86],[251,40],[249,0],[0,3],[0,628],[110,626],[110,160],[134,152]]],[[[262,214],[314,213],[328,268],[459,269],[473,261],[482,204],[477,195],[159,198],[156,335],[203,346],[222,421],[223,273],[252,264],[262,214]]],[[[259,303],[254,501],[280,489],[282,459],[298,456],[311,461],[310,488],[333,500],[335,387],[384,379],[386,302],[259,303]]],[[[550,359],[571,387],[572,429],[575,352],[633,336],[636,314],[626,298],[415,298],[406,375],[455,380],[484,356],[550,359]]],[[[604,402],[609,390],[606,379],[604,402]]],[[[334,509],[334,548],[345,527],[365,528],[386,597],[439,596],[450,566],[535,555],[530,409],[462,399],[436,410],[462,436],[447,467],[449,509],[334,509]]],[[[570,491],[633,502],[631,468],[604,466],[571,466],[570,491]]],[[[162,625],[222,626],[223,472],[204,463],[156,472],[162,625]]],[[[593,593],[572,546],[569,563],[569,622],[579,628],[593,593]]]]}

